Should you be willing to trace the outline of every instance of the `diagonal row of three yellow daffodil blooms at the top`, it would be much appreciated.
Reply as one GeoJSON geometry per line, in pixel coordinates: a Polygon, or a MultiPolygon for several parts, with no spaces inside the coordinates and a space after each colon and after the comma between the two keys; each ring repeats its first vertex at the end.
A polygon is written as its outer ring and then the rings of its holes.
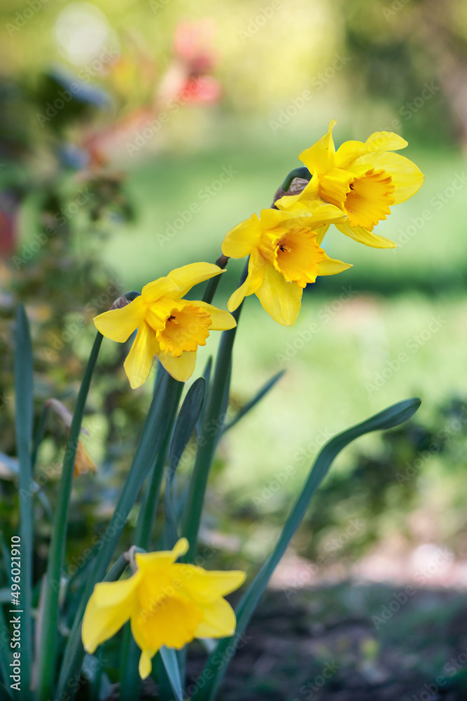
{"type": "MultiPolygon", "coordinates": [[[[295,195],[285,195],[260,217],[231,229],[222,245],[226,257],[249,256],[248,275],[231,295],[235,311],[245,297],[256,294],[279,324],[291,326],[298,316],[304,288],[318,275],[335,275],[351,265],[332,259],[321,247],[330,224],[359,243],[395,248],[373,229],[420,188],[424,176],[408,158],[392,151],[407,142],[392,132],[376,132],[365,143],[347,141],[335,150],[331,121],[326,135],[299,158],[311,176],[295,195]]],[[[146,380],[154,356],[180,381],[195,369],[197,346],[209,330],[230,329],[235,320],[202,301],[181,299],[193,285],[221,273],[221,268],[197,263],[169,273],[143,288],[128,306],[95,318],[99,331],[113,341],[126,341],[138,328],[125,370],[132,387],[146,380]]]]}

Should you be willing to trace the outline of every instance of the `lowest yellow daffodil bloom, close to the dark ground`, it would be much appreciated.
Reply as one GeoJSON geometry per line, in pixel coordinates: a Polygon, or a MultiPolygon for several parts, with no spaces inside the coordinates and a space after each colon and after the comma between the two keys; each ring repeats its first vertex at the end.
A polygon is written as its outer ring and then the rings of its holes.
{"type": "Polygon", "coordinates": [[[146,679],[163,645],[180,650],[196,637],[233,635],[235,613],[223,597],[244,583],[244,572],[176,563],[187,551],[188,540],[181,538],[173,550],[137,553],[130,578],[95,585],[83,618],[85,650],[94,653],[130,620],[142,651],[139,674],[146,679]]]}

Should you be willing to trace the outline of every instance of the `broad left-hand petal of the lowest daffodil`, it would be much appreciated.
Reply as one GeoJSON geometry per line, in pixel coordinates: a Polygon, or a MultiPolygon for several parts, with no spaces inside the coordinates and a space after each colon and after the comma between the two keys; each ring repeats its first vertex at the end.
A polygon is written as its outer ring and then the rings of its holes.
{"type": "Polygon", "coordinates": [[[139,578],[102,582],[95,585],[83,617],[81,639],[92,654],[127,622],[137,606],[139,578]]]}

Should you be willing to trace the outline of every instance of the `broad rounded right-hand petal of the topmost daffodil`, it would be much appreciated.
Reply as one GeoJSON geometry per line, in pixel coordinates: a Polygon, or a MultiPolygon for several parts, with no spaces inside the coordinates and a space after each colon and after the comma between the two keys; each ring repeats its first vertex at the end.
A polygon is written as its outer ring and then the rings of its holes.
{"type": "Polygon", "coordinates": [[[394,204],[398,205],[412,197],[423,184],[424,175],[417,165],[405,156],[391,153],[366,154],[358,158],[355,165],[368,165],[375,170],[385,170],[392,178],[394,204]]]}

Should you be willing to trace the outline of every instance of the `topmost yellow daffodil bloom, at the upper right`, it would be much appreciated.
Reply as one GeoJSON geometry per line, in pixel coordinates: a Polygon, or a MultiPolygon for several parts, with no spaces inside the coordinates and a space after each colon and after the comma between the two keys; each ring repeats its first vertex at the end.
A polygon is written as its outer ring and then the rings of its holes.
{"type": "Polygon", "coordinates": [[[419,190],[424,175],[408,158],[391,153],[407,146],[393,132],[375,132],[365,143],[347,141],[336,151],[335,123],[331,121],[328,133],[299,156],[312,174],[309,184],[276,205],[290,210],[297,203],[309,205],[321,198],[347,214],[347,222],[336,224],[346,236],[374,248],[396,248],[396,243],[377,236],[373,228],[391,214],[391,205],[405,202],[419,190]]]}

